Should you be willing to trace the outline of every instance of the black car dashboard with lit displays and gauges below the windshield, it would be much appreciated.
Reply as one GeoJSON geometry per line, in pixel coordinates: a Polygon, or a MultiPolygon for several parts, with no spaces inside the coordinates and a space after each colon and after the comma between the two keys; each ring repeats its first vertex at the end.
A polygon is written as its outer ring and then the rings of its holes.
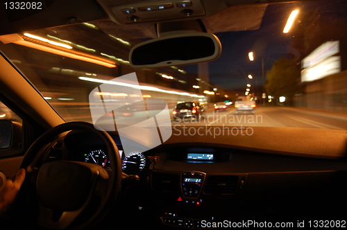
{"type": "MultiPolygon", "coordinates": [[[[124,152],[119,136],[111,136],[123,172],[139,176],[122,184],[124,221],[201,229],[203,221],[346,217],[346,161],[207,141],[168,141],[146,152],[124,152]]],[[[49,149],[46,161],[60,156],[110,169],[103,143],[92,134],[70,132],[49,149]]]]}

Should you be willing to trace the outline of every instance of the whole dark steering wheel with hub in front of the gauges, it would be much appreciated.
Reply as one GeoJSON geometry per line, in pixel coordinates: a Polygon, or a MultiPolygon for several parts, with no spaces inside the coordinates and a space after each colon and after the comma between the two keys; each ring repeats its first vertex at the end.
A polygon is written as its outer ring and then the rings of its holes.
{"type": "Polygon", "coordinates": [[[49,229],[85,229],[96,224],[115,203],[121,184],[121,159],[117,145],[107,132],[80,121],[62,123],[42,134],[24,155],[20,168],[25,168],[26,175],[30,175],[26,176],[26,181],[36,181],[37,224],[49,229]],[[43,163],[45,151],[42,148],[70,130],[90,132],[105,143],[112,169],[110,174],[93,163],[43,163]],[[80,221],[84,213],[88,213],[88,218],[80,221]]]}

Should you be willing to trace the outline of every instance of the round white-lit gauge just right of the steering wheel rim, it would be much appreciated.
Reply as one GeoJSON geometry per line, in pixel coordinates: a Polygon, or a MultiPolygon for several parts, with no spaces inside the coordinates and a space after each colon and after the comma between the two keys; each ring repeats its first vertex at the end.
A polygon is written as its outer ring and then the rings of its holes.
{"type": "Polygon", "coordinates": [[[146,157],[142,152],[130,152],[125,154],[123,161],[121,161],[121,168],[123,172],[128,175],[135,175],[146,166],[146,157]]]}

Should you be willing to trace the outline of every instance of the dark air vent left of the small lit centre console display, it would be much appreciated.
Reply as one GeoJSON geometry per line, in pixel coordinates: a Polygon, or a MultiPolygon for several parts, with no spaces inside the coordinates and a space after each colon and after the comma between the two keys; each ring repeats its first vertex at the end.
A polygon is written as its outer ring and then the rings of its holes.
{"type": "Polygon", "coordinates": [[[170,173],[152,173],[152,188],[161,191],[179,192],[180,176],[170,173]]]}

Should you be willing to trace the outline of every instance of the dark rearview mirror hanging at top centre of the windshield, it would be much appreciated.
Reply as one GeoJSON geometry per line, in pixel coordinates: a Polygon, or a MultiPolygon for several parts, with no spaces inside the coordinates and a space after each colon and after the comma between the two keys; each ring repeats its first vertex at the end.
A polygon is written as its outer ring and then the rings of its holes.
{"type": "Polygon", "coordinates": [[[158,37],[134,46],[130,66],[168,67],[216,60],[221,55],[218,37],[209,33],[181,33],[158,37]]]}

